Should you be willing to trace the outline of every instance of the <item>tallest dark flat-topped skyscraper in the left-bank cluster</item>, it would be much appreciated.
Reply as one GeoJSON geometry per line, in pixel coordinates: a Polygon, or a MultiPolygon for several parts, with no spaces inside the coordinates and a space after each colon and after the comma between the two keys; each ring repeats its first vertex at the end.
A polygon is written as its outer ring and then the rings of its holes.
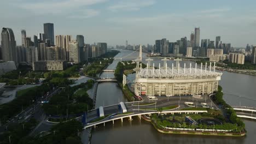
{"type": "Polygon", "coordinates": [[[44,35],[45,39],[50,40],[50,45],[54,46],[54,24],[44,23],[44,35]]]}

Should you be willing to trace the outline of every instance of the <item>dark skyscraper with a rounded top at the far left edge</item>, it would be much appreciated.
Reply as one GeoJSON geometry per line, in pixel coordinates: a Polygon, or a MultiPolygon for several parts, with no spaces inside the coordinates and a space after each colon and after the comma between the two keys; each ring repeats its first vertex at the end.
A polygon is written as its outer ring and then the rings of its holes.
{"type": "Polygon", "coordinates": [[[16,41],[11,28],[3,27],[1,33],[1,46],[3,61],[14,61],[17,64],[16,41]]]}

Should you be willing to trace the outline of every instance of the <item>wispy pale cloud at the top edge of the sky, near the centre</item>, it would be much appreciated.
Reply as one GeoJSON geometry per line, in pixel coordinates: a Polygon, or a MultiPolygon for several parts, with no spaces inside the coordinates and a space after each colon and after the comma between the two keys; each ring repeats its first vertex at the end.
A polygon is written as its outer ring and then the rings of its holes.
{"type": "Polygon", "coordinates": [[[141,0],[141,1],[133,1],[130,0],[128,1],[120,1],[115,5],[111,5],[108,7],[110,11],[117,12],[120,10],[125,10],[125,11],[136,11],[141,9],[142,7],[148,7],[150,5],[155,4],[155,0],[141,0]]]}

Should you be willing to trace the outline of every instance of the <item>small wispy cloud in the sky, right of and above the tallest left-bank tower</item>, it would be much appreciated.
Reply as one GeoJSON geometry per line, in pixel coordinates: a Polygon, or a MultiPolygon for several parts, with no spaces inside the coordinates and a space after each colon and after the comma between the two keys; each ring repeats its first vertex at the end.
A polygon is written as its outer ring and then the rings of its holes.
{"type": "Polygon", "coordinates": [[[86,19],[86,18],[90,18],[90,17],[95,17],[99,14],[100,14],[99,10],[85,9],[85,10],[80,10],[78,15],[72,15],[72,16],[69,16],[69,18],[72,18],[72,19],[86,19]]]}

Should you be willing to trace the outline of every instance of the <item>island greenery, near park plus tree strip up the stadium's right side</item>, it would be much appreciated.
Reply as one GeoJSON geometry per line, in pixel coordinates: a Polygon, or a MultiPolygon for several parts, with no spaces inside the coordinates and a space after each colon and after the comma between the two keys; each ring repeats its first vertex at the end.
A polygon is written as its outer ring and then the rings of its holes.
{"type": "Polygon", "coordinates": [[[213,110],[203,107],[191,107],[182,110],[206,110],[199,114],[174,114],[150,116],[151,123],[160,133],[166,134],[193,134],[193,135],[246,135],[245,123],[236,116],[236,112],[223,100],[222,87],[212,96],[212,100],[222,107],[221,110],[213,110]],[[194,119],[188,121],[186,117],[194,119]]]}

